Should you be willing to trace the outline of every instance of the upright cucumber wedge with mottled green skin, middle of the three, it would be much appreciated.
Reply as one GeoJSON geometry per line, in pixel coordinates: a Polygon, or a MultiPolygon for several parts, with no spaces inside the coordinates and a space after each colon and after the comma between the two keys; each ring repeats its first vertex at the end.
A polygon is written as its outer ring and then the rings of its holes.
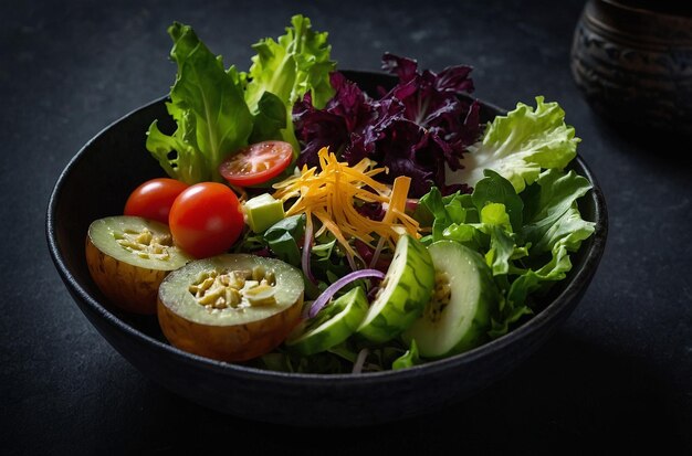
{"type": "Polygon", "coordinates": [[[434,269],[428,250],[420,241],[402,235],[358,335],[376,343],[396,338],[420,317],[433,285],[434,269]]]}

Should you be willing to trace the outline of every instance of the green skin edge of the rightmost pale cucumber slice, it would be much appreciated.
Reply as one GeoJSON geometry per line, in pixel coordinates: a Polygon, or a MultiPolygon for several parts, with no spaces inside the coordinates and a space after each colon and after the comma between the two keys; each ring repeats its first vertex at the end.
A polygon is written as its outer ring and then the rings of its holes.
{"type": "MultiPolygon", "coordinates": [[[[491,329],[491,326],[492,326],[492,320],[491,320],[492,312],[496,308],[497,303],[500,303],[500,299],[501,299],[501,295],[495,286],[492,272],[490,267],[487,266],[487,264],[485,263],[485,261],[483,259],[483,257],[478,252],[474,252],[454,241],[438,241],[428,247],[429,250],[431,250],[431,257],[433,258],[433,264],[436,264],[434,262],[436,252],[442,251],[443,247],[447,247],[444,250],[449,252],[450,247],[452,247],[451,245],[447,245],[447,244],[458,244],[459,247],[462,247],[469,251],[470,255],[468,256],[468,258],[474,263],[475,267],[481,274],[482,276],[481,282],[484,284],[487,284],[487,286],[484,286],[481,288],[481,296],[479,297],[480,307],[476,309],[473,316],[473,320],[471,321],[471,327],[466,330],[464,336],[449,350],[441,352],[441,353],[440,352],[433,353],[432,351],[429,351],[429,348],[426,347],[424,344],[421,346],[420,340],[416,340],[419,354],[427,359],[449,358],[454,354],[463,353],[464,351],[469,351],[475,347],[479,347],[485,343],[490,339],[487,336],[487,331],[491,329]]],[[[457,247],[457,246],[453,246],[453,247],[457,247]]],[[[418,329],[417,325],[413,324],[411,328],[402,335],[403,342],[407,344],[407,347],[410,347],[411,341],[416,339],[415,333],[417,329],[418,329]]]]}

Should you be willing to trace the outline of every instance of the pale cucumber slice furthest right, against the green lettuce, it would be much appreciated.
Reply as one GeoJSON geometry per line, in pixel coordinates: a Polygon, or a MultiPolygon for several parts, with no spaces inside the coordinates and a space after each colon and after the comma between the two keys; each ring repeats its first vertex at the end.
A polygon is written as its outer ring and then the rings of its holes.
{"type": "Polygon", "coordinates": [[[500,294],[483,257],[454,241],[428,247],[436,288],[423,315],[402,333],[424,358],[444,358],[483,343],[500,294]]]}

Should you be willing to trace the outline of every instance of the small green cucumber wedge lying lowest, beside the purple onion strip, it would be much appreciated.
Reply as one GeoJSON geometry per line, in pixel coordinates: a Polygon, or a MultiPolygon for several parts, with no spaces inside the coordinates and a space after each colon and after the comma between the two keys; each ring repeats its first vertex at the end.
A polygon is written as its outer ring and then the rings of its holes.
{"type": "Polygon", "coordinates": [[[289,335],[285,344],[302,356],[328,350],[348,339],[367,311],[368,298],[361,287],[355,287],[323,308],[315,318],[302,321],[289,335]]]}

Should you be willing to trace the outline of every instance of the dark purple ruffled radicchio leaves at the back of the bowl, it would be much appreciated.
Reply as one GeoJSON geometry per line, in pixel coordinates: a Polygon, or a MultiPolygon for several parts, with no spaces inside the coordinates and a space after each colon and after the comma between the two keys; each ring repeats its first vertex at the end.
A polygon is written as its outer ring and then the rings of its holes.
{"type": "Polygon", "coordinates": [[[474,89],[471,67],[419,72],[416,61],[385,54],[382,68],[399,81],[379,99],[334,73],[336,94],[324,109],[314,109],[308,96],[296,105],[294,120],[304,146],[298,166],[316,166],[317,151],[328,146],[349,165],[369,158],[386,166],[384,181],[410,177],[413,198],[431,185],[443,194],[468,191],[464,184],[447,185],[444,170],[460,169],[463,153],[481,134],[480,105],[468,96],[474,89]]]}

